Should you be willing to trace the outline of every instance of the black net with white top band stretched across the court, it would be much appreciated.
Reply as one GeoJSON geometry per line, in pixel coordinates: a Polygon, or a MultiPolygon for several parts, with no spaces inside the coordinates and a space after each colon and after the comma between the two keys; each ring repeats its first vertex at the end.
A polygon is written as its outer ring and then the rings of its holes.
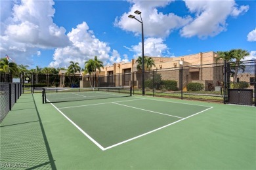
{"type": "Polygon", "coordinates": [[[107,99],[131,96],[131,88],[43,88],[43,103],[107,99]]]}

